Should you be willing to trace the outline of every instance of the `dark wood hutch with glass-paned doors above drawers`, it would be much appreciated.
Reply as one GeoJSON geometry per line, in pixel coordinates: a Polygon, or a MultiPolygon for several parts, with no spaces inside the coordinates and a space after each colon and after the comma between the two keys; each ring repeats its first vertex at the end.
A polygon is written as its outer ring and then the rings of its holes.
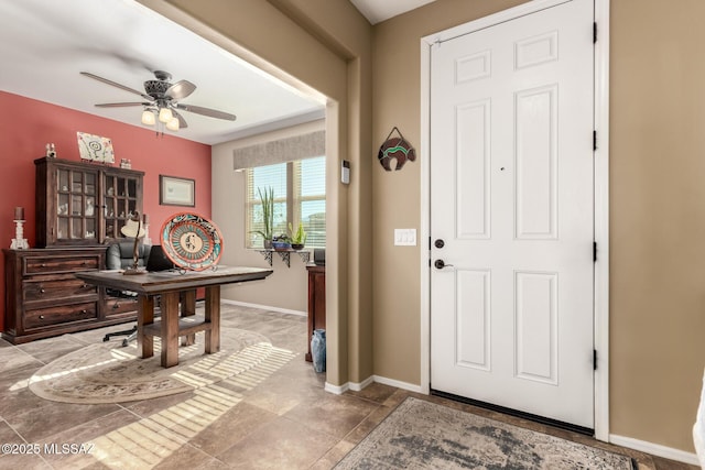
{"type": "Polygon", "coordinates": [[[50,157],[34,164],[37,248],[3,250],[2,337],[22,343],[134,320],[135,300],[110,296],[74,273],[105,270],[106,241],[142,214],[144,173],[50,157]]]}

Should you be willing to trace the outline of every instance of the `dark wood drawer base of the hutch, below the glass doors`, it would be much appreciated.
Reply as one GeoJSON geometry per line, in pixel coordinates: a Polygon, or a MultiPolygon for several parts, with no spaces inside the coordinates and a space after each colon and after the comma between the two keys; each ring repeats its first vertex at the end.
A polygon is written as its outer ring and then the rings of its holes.
{"type": "Polygon", "coordinates": [[[2,337],[19,345],[137,318],[137,303],[106,294],[74,276],[105,269],[106,247],[3,250],[6,315],[2,337]]]}

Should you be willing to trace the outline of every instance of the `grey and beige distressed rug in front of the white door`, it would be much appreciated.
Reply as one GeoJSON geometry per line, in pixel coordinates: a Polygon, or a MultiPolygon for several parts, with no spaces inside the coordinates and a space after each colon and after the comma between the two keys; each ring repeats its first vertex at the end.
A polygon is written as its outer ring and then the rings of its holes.
{"type": "Polygon", "coordinates": [[[631,458],[408,397],[336,469],[632,470],[631,458]]]}

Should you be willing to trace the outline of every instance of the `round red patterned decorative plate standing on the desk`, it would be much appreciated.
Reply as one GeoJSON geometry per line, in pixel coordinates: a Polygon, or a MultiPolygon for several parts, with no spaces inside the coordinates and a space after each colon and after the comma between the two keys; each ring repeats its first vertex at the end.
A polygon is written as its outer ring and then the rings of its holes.
{"type": "Polygon", "coordinates": [[[210,220],[197,214],[180,212],[162,226],[162,248],[184,270],[215,267],[223,254],[223,236],[210,220]]]}

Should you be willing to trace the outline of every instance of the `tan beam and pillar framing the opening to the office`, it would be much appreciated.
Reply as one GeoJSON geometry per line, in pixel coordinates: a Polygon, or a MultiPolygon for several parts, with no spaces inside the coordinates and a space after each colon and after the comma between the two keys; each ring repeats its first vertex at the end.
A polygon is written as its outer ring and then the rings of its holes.
{"type": "Polygon", "coordinates": [[[370,25],[347,0],[140,0],[223,48],[326,100],[327,384],[371,375],[370,25]],[[357,62],[359,61],[359,63],[357,62]],[[341,160],[350,185],[339,183],[341,160]],[[350,295],[361,294],[361,295],[350,295]],[[362,352],[365,351],[365,353],[362,352]],[[361,362],[365,361],[365,362],[361,362]],[[354,374],[352,376],[350,374],[354,374]]]}

